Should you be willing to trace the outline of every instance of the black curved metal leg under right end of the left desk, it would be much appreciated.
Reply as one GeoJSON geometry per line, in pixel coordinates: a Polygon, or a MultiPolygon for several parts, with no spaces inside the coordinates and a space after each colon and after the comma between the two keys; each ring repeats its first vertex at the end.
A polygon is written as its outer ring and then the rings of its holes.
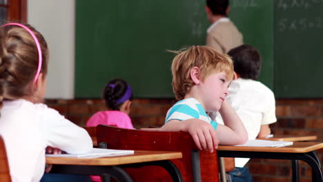
{"type": "Polygon", "coordinates": [[[172,177],[173,182],[182,182],[182,174],[179,172],[178,168],[174,163],[171,161],[152,161],[152,162],[144,162],[144,163],[130,163],[130,164],[125,164],[125,165],[118,165],[121,168],[141,168],[143,166],[147,165],[157,165],[160,166],[161,168],[164,168],[172,177]]]}

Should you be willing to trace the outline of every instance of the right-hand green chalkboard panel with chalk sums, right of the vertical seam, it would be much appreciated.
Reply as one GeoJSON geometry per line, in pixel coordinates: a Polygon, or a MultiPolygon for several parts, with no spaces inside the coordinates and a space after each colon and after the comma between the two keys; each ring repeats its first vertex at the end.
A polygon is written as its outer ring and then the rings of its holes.
{"type": "Polygon", "coordinates": [[[323,98],[323,1],[275,1],[275,94],[323,98]]]}

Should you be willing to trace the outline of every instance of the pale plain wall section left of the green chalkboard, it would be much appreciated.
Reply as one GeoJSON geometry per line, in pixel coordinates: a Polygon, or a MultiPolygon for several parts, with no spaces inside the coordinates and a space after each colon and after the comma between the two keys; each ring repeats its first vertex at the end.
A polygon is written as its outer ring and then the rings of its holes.
{"type": "Polygon", "coordinates": [[[50,49],[46,98],[74,97],[75,0],[28,1],[27,21],[50,49]]]}

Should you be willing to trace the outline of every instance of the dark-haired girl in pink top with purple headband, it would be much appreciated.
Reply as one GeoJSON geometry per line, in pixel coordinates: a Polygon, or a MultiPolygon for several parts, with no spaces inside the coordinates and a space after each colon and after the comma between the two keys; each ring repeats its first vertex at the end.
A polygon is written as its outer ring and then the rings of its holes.
{"type": "MultiPolygon", "coordinates": [[[[133,129],[133,123],[128,116],[130,112],[133,91],[123,79],[112,79],[103,92],[108,110],[95,113],[86,126],[114,125],[119,128],[133,129]]],[[[101,181],[99,176],[91,176],[92,181],[101,181]]]]}

